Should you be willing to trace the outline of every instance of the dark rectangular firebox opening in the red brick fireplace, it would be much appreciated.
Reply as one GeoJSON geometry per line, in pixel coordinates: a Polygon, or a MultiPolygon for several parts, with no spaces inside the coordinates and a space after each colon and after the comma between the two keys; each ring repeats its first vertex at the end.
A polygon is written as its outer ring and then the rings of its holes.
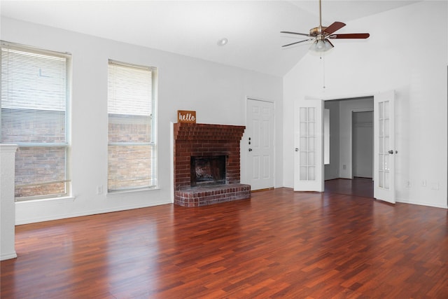
{"type": "Polygon", "coordinates": [[[225,155],[191,157],[191,186],[225,184],[225,155]]]}

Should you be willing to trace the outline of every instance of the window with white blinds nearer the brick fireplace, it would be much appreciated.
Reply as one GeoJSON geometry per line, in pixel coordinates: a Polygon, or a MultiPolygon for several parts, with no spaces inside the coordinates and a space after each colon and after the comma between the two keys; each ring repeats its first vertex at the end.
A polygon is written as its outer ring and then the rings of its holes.
{"type": "Polygon", "coordinates": [[[109,60],[108,192],[157,186],[157,70],[109,60]]]}

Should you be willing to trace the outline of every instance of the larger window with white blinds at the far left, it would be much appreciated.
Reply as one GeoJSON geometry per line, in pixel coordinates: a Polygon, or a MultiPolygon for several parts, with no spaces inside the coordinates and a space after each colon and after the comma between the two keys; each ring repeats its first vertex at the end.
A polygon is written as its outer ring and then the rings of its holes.
{"type": "Polygon", "coordinates": [[[69,195],[69,63],[1,42],[0,142],[18,144],[16,201],[69,195]]]}

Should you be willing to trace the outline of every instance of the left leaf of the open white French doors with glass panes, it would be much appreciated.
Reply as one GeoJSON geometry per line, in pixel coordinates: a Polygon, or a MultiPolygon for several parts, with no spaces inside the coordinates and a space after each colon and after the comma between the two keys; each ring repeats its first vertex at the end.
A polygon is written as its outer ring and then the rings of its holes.
{"type": "Polygon", "coordinates": [[[294,107],[294,190],[323,192],[323,102],[305,99],[294,107]]]}

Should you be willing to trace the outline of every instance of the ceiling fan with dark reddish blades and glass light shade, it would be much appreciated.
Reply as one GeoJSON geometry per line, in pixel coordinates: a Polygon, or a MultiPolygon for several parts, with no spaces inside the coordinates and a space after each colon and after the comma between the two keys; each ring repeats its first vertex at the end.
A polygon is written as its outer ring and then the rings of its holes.
{"type": "Polygon", "coordinates": [[[318,52],[324,52],[326,50],[330,50],[334,48],[330,39],[367,39],[370,34],[368,33],[352,33],[352,34],[334,34],[337,30],[344,27],[345,24],[343,22],[333,22],[332,25],[328,27],[322,26],[322,5],[321,0],[319,0],[319,26],[311,28],[309,30],[309,34],[298,33],[298,32],[288,32],[282,31],[281,33],[286,34],[297,34],[302,36],[307,36],[310,39],[304,39],[303,41],[296,41],[295,43],[288,43],[282,47],[293,46],[297,43],[303,43],[305,41],[313,41],[311,44],[310,50],[315,50],[318,52]]]}

